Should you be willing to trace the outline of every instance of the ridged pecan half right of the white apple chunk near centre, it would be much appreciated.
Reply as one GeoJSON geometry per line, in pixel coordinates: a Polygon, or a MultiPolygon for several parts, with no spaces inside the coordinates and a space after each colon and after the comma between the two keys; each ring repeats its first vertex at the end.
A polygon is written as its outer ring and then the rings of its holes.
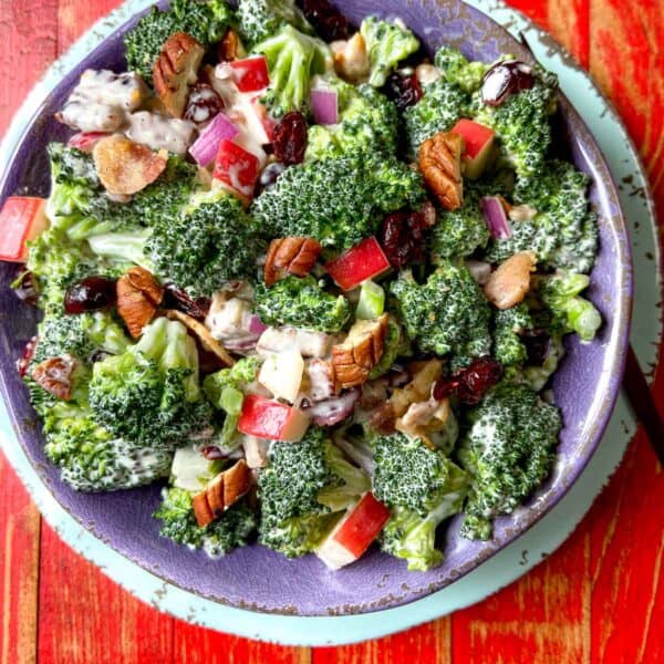
{"type": "Polygon", "coordinates": [[[371,370],[383,356],[387,314],[366,321],[357,321],[346,340],[332,347],[332,369],[336,392],[362,385],[371,370]]]}

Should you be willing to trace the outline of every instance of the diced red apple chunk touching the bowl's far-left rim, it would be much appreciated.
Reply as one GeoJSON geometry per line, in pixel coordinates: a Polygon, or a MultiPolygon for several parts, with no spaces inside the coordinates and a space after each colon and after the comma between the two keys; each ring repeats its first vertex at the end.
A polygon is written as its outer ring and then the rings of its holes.
{"type": "Polygon", "coordinates": [[[43,198],[10,196],[0,211],[0,260],[25,262],[25,242],[49,227],[43,198]]]}

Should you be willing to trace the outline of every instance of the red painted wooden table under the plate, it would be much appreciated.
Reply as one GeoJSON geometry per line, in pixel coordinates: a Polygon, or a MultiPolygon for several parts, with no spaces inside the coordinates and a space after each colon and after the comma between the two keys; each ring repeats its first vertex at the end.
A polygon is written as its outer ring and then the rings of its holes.
{"type": "MultiPolygon", "coordinates": [[[[118,0],[0,0],[0,132],[44,69],[118,0]]],[[[511,0],[590,70],[664,206],[664,1],[511,0]]],[[[655,312],[653,312],[655,314],[655,312]]],[[[664,376],[655,382],[664,403],[664,376]]],[[[2,664],[664,662],[664,473],[643,435],[574,535],[480,604],[341,649],[266,645],[141,603],[62,543],[0,455],[2,664]]]]}

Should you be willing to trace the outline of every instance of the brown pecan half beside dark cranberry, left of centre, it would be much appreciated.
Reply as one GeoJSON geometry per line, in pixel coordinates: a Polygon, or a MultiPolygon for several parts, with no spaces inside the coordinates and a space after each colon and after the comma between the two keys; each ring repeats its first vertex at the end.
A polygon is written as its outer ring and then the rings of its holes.
{"type": "Polygon", "coordinates": [[[156,315],[164,299],[164,289],[145,268],[132,268],[117,280],[117,313],[129,334],[141,336],[143,328],[156,315]]]}

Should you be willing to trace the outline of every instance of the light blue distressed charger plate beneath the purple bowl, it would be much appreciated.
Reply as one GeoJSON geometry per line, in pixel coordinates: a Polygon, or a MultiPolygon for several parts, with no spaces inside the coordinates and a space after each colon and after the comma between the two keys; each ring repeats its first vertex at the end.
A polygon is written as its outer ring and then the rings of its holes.
{"type": "MultiPolygon", "coordinates": [[[[2,146],[0,163],[9,163],[43,98],[63,73],[111,34],[117,25],[153,2],[129,0],[96,23],[60,59],[33,89],[17,114],[2,146]]],[[[501,2],[468,0],[515,37],[523,34],[536,58],[560,76],[563,92],[592,129],[611,166],[630,225],[634,253],[635,292],[632,344],[644,367],[654,367],[661,320],[652,315],[661,301],[660,255],[652,197],[634,146],[614,110],[588,75],[546,33],[501,2]]],[[[566,497],[536,526],[475,571],[452,585],[409,604],[346,616],[301,618],[232,609],[165,583],[83,529],[50,495],[29,464],[2,407],[1,444],[46,521],[73,549],[94,562],[126,590],[188,622],[241,636],[298,645],[340,645],[391,634],[480,601],[526,573],[558,548],[592,505],[620,463],[635,430],[634,417],[621,395],[600,447],[566,497]]]]}

